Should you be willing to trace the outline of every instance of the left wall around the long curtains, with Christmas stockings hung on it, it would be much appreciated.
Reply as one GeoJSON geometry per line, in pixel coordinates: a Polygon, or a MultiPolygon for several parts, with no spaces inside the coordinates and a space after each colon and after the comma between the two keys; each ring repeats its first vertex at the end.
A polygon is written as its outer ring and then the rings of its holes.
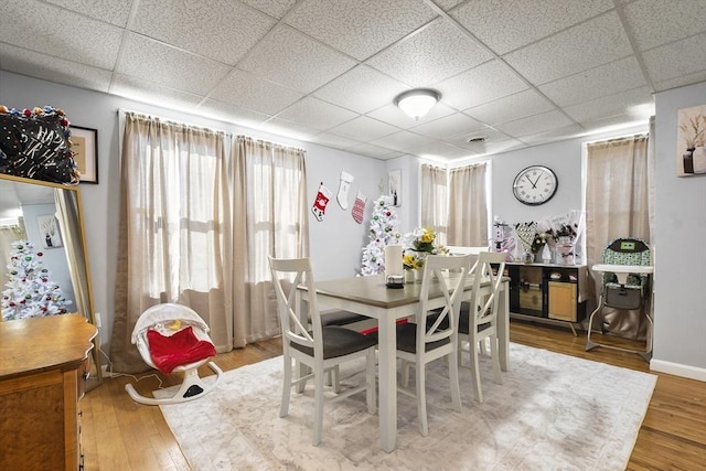
{"type": "Polygon", "coordinates": [[[360,268],[362,248],[367,244],[368,213],[372,211],[373,201],[377,197],[377,185],[383,176],[386,183],[385,165],[379,160],[258,132],[193,114],[169,110],[7,72],[0,72],[0,104],[19,109],[51,105],[63,109],[73,125],[98,130],[99,183],[97,185],[81,184],[81,196],[95,311],[100,313],[103,319],[100,343],[104,351],[109,351],[108,342],[113,331],[115,306],[119,214],[119,109],[152,114],[162,118],[244,133],[306,149],[309,205],[313,203],[319,182],[323,181],[333,193],[322,222],[317,222],[309,213],[311,258],[317,278],[353,276],[354,269],[360,268]],[[355,176],[349,193],[347,211],[341,210],[335,201],[341,170],[355,176]],[[355,223],[351,215],[359,190],[367,195],[363,224],[355,223]]]}

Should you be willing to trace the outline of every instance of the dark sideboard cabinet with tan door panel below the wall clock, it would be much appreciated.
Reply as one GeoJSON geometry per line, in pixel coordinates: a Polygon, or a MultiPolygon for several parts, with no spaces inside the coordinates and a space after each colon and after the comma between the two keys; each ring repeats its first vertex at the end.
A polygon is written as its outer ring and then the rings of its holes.
{"type": "Polygon", "coordinates": [[[586,319],[588,267],[586,265],[505,265],[510,277],[510,312],[515,317],[575,323],[586,319]]]}

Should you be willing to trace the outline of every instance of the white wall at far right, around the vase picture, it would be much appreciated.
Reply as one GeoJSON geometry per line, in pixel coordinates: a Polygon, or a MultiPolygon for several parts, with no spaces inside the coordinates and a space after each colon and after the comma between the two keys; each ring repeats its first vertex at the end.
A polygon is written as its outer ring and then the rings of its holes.
{"type": "Polygon", "coordinates": [[[706,105],[706,82],[655,96],[654,357],[706,381],[706,175],[676,176],[677,111],[706,105]]]}

